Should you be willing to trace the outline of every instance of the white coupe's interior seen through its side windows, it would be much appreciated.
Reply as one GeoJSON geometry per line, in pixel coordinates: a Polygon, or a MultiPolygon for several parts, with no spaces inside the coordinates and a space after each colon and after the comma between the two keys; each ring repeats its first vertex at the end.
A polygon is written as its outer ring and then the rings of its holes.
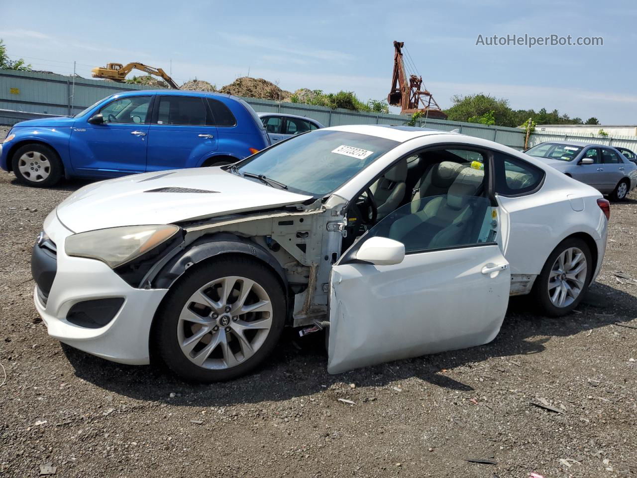
{"type": "MultiPolygon", "coordinates": [[[[343,252],[366,231],[399,240],[407,251],[484,242],[490,233],[484,159],[451,148],[402,159],[350,205],[343,252]]],[[[505,179],[513,189],[533,181],[513,167],[505,179]]]]}

